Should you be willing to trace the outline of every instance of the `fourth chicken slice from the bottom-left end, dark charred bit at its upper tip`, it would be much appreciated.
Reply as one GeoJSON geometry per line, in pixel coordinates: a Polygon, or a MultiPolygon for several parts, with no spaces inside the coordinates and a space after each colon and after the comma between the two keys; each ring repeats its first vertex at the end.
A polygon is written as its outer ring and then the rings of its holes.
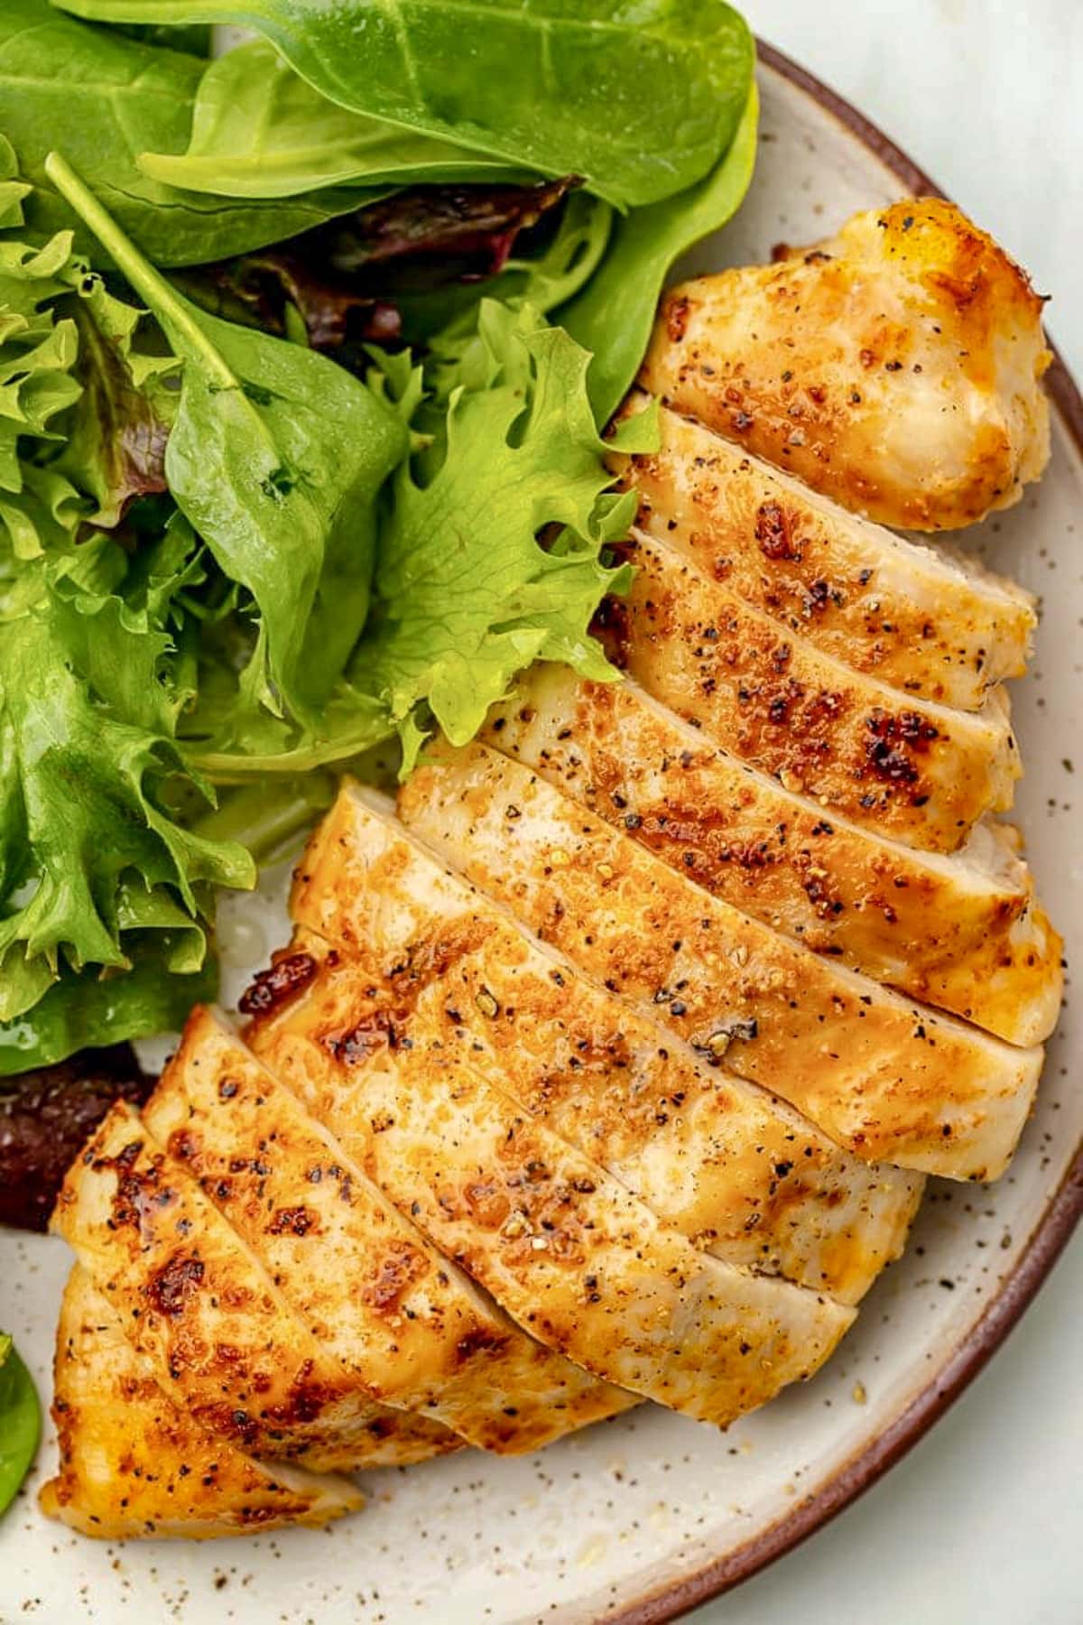
{"type": "Polygon", "coordinates": [[[383,1040],[317,973],[250,1043],[533,1337],[724,1425],[822,1365],[854,1311],[697,1251],[471,1068],[383,1040]]]}

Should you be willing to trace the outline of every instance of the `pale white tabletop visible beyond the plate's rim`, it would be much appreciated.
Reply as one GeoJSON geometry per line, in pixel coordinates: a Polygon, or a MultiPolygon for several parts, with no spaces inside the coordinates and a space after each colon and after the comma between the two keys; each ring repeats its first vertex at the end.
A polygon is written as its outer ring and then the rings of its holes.
{"type": "MultiPolygon", "coordinates": [[[[1083,0],[745,0],[1052,294],[1083,379],[1083,0]]],[[[1083,830],[1080,832],[1083,842],[1083,830]]],[[[1083,1233],[990,1367],[828,1529],[697,1625],[1083,1622],[1083,1233]]]]}

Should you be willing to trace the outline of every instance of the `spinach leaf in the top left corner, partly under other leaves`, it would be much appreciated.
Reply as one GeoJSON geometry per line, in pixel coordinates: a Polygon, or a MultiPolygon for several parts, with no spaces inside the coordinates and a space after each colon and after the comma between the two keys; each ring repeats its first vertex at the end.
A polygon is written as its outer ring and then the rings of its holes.
{"type": "MultiPolygon", "coordinates": [[[[356,206],[356,192],[289,202],[227,202],[179,192],[136,167],[143,151],[180,153],[206,62],[60,16],[49,0],[0,5],[0,125],[34,192],[26,202],[36,242],[78,219],[44,171],[63,146],[93,190],[157,265],[196,265],[318,226],[356,206]]],[[[106,263],[94,237],[76,250],[106,263]]]]}

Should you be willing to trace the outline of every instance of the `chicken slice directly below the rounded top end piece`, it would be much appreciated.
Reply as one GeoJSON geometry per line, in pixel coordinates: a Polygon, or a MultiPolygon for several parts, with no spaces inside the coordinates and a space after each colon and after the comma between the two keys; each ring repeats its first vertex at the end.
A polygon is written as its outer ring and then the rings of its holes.
{"type": "MultiPolygon", "coordinates": [[[[641,411],[635,392],[623,413],[641,411]]],[[[661,445],[611,457],[640,525],[854,671],[979,710],[1026,670],[1034,600],[966,554],[848,514],[781,470],[662,408],[661,445]]]]}

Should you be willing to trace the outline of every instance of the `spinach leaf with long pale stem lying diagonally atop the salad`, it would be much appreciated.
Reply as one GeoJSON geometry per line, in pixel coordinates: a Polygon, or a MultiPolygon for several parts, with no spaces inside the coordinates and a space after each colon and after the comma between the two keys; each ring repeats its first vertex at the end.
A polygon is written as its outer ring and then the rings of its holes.
{"type": "Polygon", "coordinates": [[[369,611],[375,497],[406,431],[334,362],[188,304],[58,154],[45,171],[183,361],[169,491],[255,600],[260,697],[315,723],[369,611]]]}

